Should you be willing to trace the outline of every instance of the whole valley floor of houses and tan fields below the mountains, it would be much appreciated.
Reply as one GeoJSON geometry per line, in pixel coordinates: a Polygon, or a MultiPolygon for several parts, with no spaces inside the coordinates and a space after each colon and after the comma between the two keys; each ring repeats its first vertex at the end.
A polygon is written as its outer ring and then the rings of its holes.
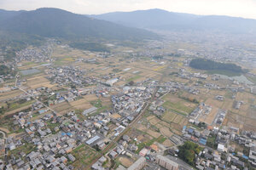
{"type": "Polygon", "coordinates": [[[159,35],[0,39],[0,169],[255,169],[256,39],[159,35]]]}

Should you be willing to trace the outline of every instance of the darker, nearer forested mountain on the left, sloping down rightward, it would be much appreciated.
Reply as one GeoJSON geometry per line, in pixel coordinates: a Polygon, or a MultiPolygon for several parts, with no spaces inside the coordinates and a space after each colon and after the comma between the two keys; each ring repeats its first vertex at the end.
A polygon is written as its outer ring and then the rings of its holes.
{"type": "Polygon", "coordinates": [[[38,8],[32,11],[0,10],[0,30],[62,38],[109,38],[138,40],[157,37],[142,29],[96,20],[59,8],[38,8]]]}

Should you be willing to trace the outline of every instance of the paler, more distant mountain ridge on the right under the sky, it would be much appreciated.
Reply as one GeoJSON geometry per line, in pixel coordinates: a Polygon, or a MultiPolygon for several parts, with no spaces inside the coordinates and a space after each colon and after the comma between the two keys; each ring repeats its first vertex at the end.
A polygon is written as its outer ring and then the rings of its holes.
{"type": "Polygon", "coordinates": [[[255,33],[256,20],[220,15],[173,13],[154,8],[132,12],[113,12],[90,15],[123,26],[165,31],[223,31],[227,33],[255,33]]]}

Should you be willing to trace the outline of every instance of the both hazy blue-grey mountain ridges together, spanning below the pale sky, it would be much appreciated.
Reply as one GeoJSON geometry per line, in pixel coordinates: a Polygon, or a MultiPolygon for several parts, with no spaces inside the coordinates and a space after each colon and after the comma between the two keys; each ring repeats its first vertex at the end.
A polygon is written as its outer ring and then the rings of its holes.
{"type": "Polygon", "coordinates": [[[89,16],[59,8],[38,8],[32,11],[0,9],[0,31],[41,37],[135,41],[158,37],[145,29],[256,34],[256,20],[172,13],[157,8],[89,16]]]}

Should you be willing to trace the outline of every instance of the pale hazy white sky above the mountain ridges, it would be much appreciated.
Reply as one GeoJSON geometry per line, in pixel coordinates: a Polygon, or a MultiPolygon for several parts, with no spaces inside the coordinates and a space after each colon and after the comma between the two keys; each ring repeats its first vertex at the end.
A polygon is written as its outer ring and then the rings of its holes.
{"type": "Polygon", "coordinates": [[[190,14],[220,14],[256,19],[256,0],[0,0],[0,8],[62,8],[77,14],[102,14],[162,8],[190,14]]]}

